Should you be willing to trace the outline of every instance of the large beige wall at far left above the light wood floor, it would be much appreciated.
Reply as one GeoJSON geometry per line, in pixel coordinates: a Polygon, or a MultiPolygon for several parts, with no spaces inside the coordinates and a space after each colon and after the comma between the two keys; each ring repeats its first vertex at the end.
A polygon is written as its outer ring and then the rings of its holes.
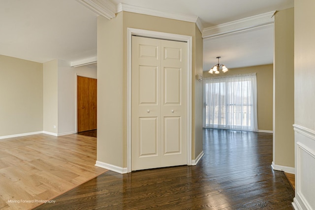
{"type": "Polygon", "coordinates": [[[43,65],[0,55],[0,137],[43,130],[43,65]]]}

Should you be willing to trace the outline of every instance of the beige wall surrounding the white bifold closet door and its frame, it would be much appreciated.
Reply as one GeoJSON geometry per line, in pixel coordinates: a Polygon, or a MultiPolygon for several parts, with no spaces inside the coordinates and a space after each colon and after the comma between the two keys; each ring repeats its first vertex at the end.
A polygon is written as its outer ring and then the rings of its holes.
{"type": "MultiPolygon", "coordinates": [[[[154,30],[167,33],[189,35],[193,37],[192,48],[195,48],[196,27],[194,23],[120,12],[112,20],[98,17],[97,22],[97,78],[98,78],[98,124],[100,130],[97,138],[97,160],[107,164],[126,168],[126,40],[127,28],[154,30]],[[115,91],[113,91],[115,90],[115,91]]],[[[202,55],[202,49],[198,49],[202,55]]],[[[192,53],[195,59],[196,51],[192,53]]],[[[195,60],[192,60],[193,85],[195,80],[195,60]]],[[[200,59],[198,60],[200,62],[200,59]]],[[[198,66],[202,65],[199,64],[198,66]]],[[[194,87],[193,87],[194,90],[194,87]]],[[[192,93],[192,107],[195,107],[195,96],[202,92],[192,93]]],[[[201,96],[200,96],[201,97],[201,96]]],[[[201,106],[200,106],[201,107],[201,106]]],[[[195,111],[192,111],[193,129],[195,128],[195,111]]],[[[200,138],[200,135],[198,135],[200,138]]],[[[196,140],[202,144],[202,138],[196,140]]],[[[195,135],[192,145],[196,145],[195,135]]],[[[194,149],[193,149],[194,153],[194,149]]],[[[194,157],[193,157],[194,158],[194,157]]]]}

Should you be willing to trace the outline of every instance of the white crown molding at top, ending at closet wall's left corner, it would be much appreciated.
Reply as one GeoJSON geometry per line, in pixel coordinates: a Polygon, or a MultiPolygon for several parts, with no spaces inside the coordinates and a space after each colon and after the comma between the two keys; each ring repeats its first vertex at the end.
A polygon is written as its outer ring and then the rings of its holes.
{"type": "Polygon", "coordinates": [[[76,0],[95,14],[104,16],[108,20],[116,17],[116,6],[110,0],[76,0]]]}

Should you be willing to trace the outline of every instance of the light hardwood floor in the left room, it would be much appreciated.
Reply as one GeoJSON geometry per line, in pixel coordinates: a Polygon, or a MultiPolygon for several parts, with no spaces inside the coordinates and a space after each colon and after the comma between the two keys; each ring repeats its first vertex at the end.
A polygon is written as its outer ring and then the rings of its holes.
{"type": "Polygon", "coordinates": [[[96,138],[37,134],[0,140],[0,209],[32,209],[107,170],[96,138]]]}

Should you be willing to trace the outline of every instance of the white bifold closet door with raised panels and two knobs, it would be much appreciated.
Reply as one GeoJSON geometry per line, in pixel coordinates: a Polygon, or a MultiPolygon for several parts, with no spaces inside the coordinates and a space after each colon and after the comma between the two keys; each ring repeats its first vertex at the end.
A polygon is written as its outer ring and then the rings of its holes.
{"type": "Polygon", "coordinates": [[[187,165],[187,43],[132,36],[132,170],[187,165]]]}

